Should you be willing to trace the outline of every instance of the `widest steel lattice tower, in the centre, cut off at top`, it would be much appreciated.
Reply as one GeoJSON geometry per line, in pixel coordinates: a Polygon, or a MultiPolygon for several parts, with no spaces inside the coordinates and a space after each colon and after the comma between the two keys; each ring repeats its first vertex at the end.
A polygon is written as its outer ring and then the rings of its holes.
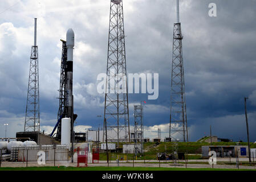
{"type": "MultiPolygon", "coordinates": [[[[111,134],[107,134],[107,139],[117,142],[117,146],[120,140],[131,141],[126,76],[123,1],[111,0],[104,118],[107,120],[107,129],[112,130],[111,134]],[[120,90],[125,92],[120,93],[120,90]]],[[[105,130],[103,141],[104,136],[105,130]]]]}

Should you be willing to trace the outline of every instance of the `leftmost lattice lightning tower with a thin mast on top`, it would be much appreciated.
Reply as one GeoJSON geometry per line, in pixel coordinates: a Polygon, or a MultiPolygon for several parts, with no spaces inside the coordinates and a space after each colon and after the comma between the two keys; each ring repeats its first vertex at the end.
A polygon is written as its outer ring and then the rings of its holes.
{"type": "Polygon", "coordinates": [[[40,131],[39,118],[39,72],[38,46],[36,46],[36,18],[34,46],[31,48],[29,85],[27,89],[27,106],[24,131],[40,131]]]}

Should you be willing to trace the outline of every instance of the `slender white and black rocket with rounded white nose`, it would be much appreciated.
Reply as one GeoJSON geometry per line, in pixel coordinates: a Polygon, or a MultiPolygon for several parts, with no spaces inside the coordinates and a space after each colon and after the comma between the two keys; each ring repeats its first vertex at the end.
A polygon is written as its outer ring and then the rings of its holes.
{"type": "Polygon", "coordinates": [[[72,28],[67,31],[67,118],[73,120],[73,49],[75,34],[72,28]]]}

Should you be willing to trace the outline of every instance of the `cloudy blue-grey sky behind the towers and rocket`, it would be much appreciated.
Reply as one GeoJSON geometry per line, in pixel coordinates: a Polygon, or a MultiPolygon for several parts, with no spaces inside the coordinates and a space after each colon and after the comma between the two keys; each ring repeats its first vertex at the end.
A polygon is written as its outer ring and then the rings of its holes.
{"type": "MultiPolygon", "coordinates": [[[[103,126],[104,95],[97,94],[97,75],[105,73],[109,26],[108,0],[0,1],[0,137],[23,131],[29,57],[38,18],[41,129],[50,133],[58,113],[61,42],[75,32],[74,112],[76,131],[103,126]]],[[[128,73],[159,73],[159,98],[129,94],[144,106],[145,137],[168,135],[170,69],[175,0],[124,0],[128,73]]],[[[247,102],[250,139],[256,140],[256,1],[181,0],[185,90],[189,139],[209,135],[246,140],[247,102]],[[217,17],[208,15],[216,3],[217,17]]]]}

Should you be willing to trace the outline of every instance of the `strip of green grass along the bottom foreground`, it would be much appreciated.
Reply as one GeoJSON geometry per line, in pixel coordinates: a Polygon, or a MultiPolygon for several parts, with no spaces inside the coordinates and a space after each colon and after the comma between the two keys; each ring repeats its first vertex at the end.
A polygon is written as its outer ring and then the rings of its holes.
{"type": "Polygon", "coordinates": [[[158,168],[158,167],[3,167],[0,171],[256,171],[253,169],[158,168]]]}

